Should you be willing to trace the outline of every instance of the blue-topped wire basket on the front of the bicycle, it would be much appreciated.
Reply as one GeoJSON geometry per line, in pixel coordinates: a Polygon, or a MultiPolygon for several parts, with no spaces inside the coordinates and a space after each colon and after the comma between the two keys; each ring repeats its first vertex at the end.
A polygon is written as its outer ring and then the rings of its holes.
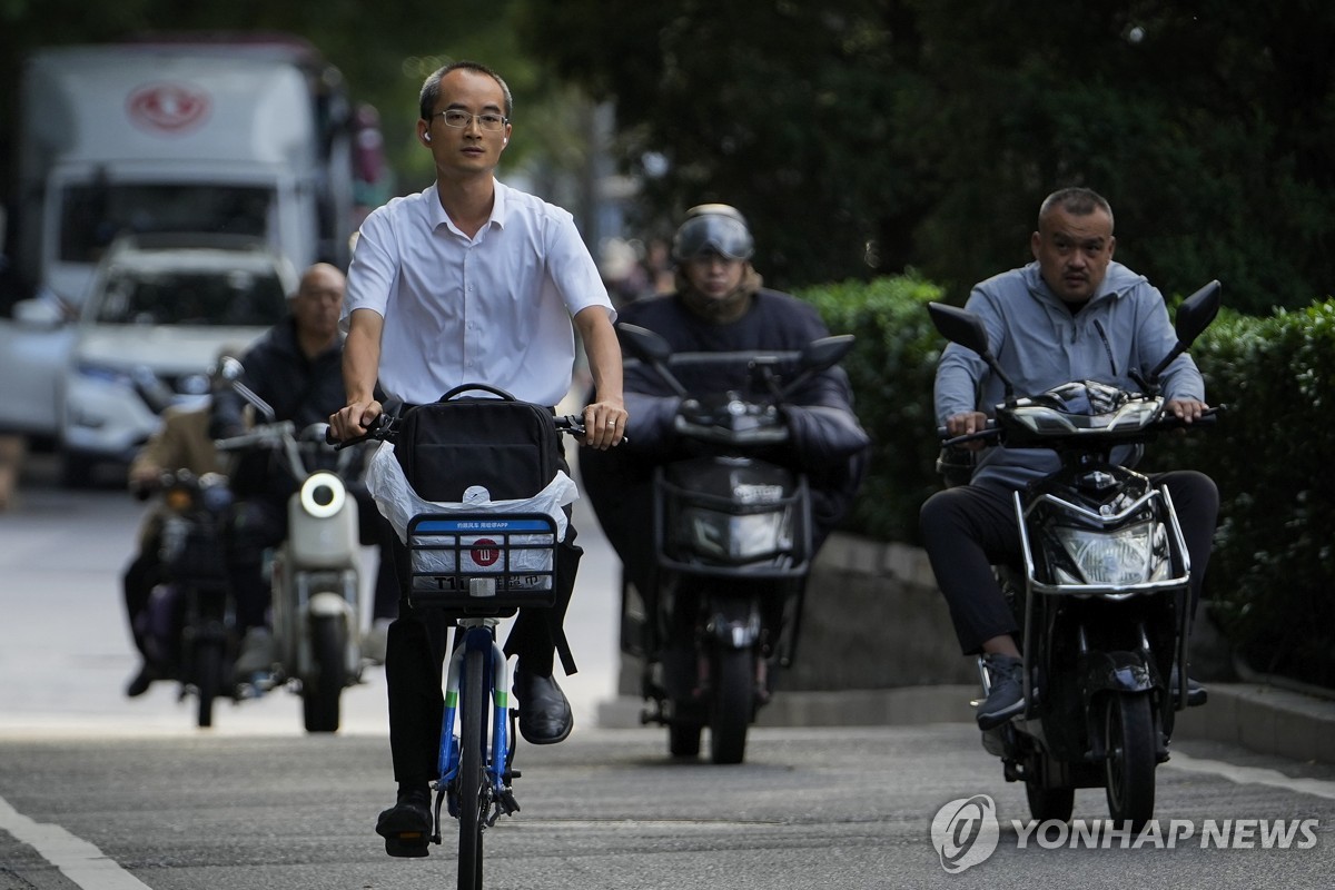
{"type": "Polygon", "coordinates": [[[421,514],[407,546],[414,607],[499,615],[555,602],[557,523],[546,514],[421,514]]]}

